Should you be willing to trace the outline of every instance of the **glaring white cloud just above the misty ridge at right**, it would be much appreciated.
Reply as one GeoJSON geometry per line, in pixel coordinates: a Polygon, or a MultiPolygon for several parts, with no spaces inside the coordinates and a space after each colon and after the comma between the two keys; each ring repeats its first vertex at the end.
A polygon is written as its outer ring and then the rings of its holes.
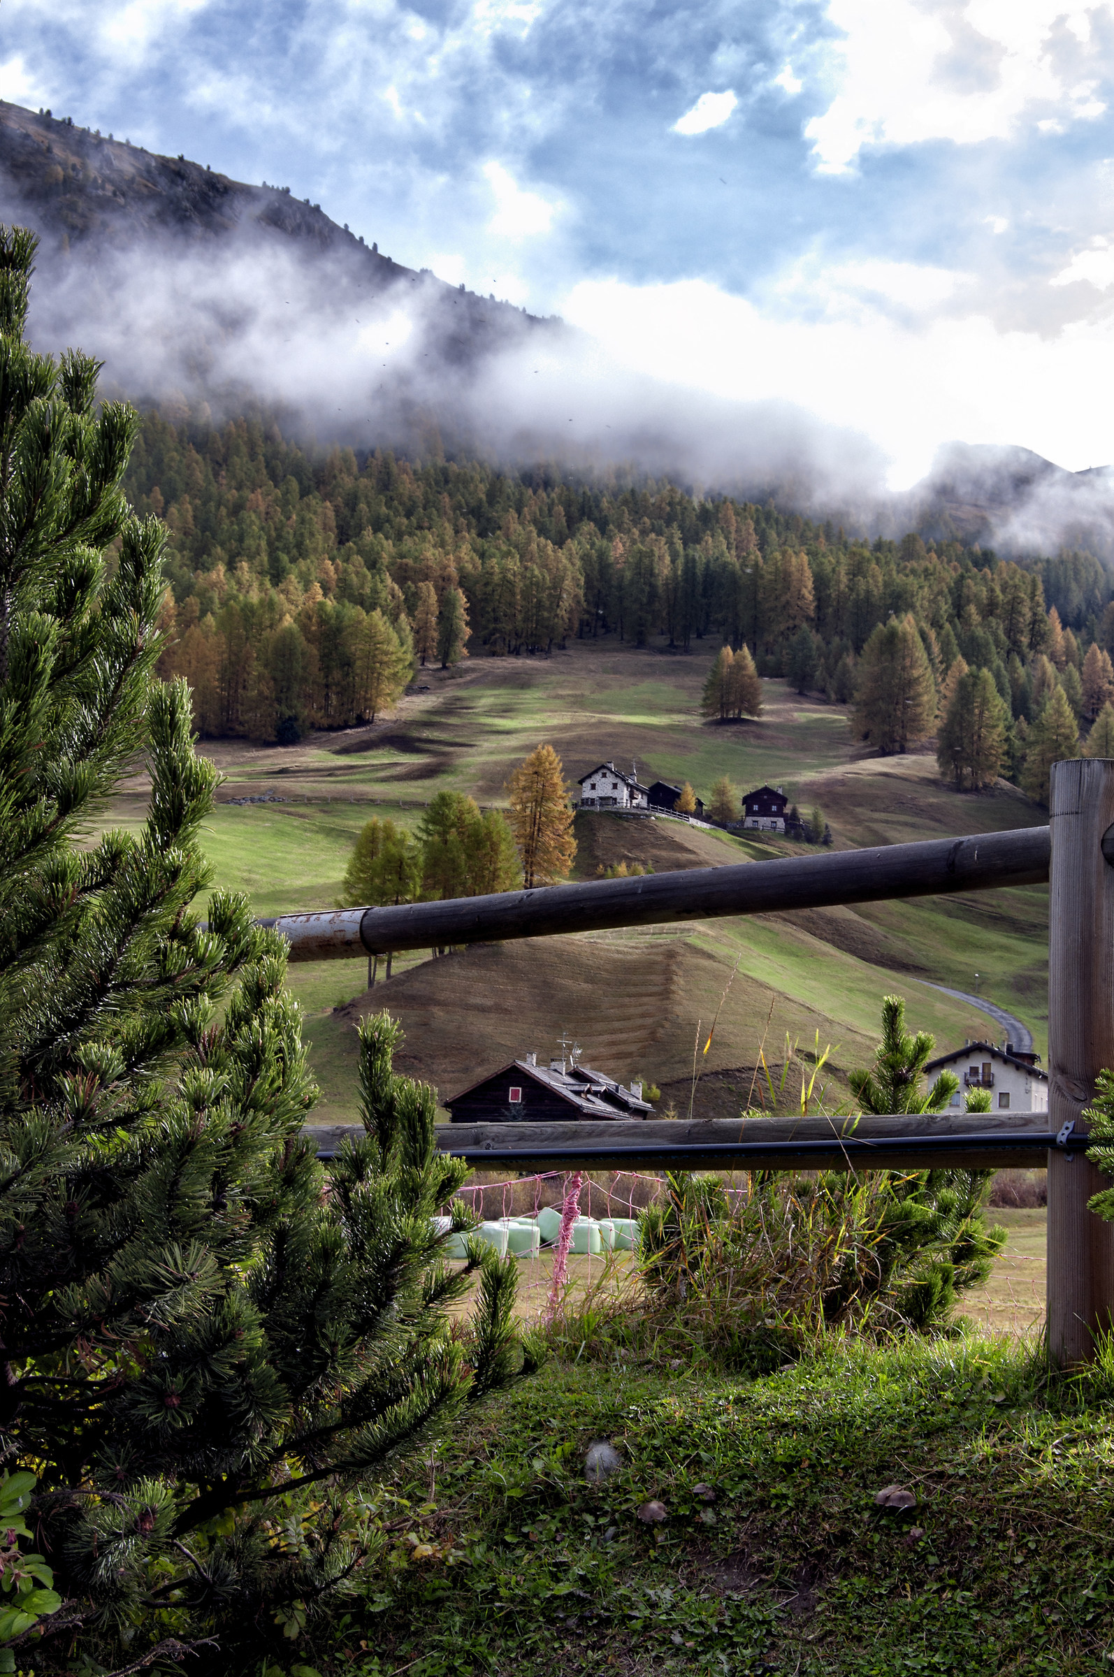
{"type": "MultiPolygon", "coordinates": [[[[938,277],[923,285],[928,295],[938,277]]],[[[822,424],[869,438],[891,490],[924,476],[950,438],[1022,438],[1072,470],[1114,459],[1114,416],[1099,399],[1114,381],[1114,322],[1049,340],[998,332],[985,315],[901,322],[864,295],[812,320],[778,317],[773,300],[758,309],[703,280],[586,280],[562,312],[629,372],[721,399],[795,396],[822,424]]]]}

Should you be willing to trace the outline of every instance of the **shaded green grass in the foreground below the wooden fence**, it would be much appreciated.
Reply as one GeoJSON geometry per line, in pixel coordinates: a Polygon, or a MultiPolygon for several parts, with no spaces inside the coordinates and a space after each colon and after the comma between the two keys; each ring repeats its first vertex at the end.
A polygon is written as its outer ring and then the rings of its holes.
{"type": "Polygon", "coordinates": [[[295,1659],[356,1677],[1106,1670],[1112,1390],[1109,1368],[1049,1382],[978,1337],[837,1342],[760,1380],[555,1362],[376,1493],[388,1553],[364,1605],[295,1659]],[[584,1481],[597,1439],[622,1457],[606,1486],[584,1481]],[[914,1508],[874,1503],[894,1482],[914,1508]],[[649,1499],[664,1521],[638,1519],[649,1499]]]}

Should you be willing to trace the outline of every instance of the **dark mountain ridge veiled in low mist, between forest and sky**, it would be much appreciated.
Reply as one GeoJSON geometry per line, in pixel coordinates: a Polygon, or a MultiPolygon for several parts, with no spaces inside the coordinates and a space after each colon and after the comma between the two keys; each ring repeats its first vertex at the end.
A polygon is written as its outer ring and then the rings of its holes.
{"type": "Polygon", "coordinates": [[[804,406],[651,379],[560,320],[394,262],[282,186],[2,102],[0,215],[42,238],[35,340],[81,344],[107,386],[171,416],[265,404],[356,448],[632,466],[871,532],[1114,558],[1102,471],[950,444],[891,495],[879,446],[804,406]]]}

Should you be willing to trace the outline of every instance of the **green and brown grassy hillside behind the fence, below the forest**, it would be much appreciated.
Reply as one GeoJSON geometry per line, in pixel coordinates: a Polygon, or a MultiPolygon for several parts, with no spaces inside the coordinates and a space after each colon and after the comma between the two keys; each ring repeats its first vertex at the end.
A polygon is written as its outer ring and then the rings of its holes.
{"type": "MultiPolygon", "coordinates": [[[[856,746],[837,706],[763,683],[760,721],[701,723],[703,657],[661,649],[572,642],[549,659],[468,659],[433,671],[394,718],[294,746],[215,741],[205,750],[228,776],[206,832],[220,884],[248,889],[260,912],[327,907],[359,825],[391,815],[419,820],[440,790],[503,802],[508,770],[549,740],[574,776],[601,758],[685,775],[698,792],[730,773],[737,785],[782,783],[804,807],[819,802],[841,847],[988,832],[1040,823],[1044,810],[998,783],[958,795],[928,755],[876,758],[856,746]],[[280,803],[232,802],[277,797],[280,803]]],[[[116,808],[138,818],[143,793],[116,808]]],[[[577,820],[577,874],[601,864],[656,870],[800,854],[785,840],[733,838],[679,822],[577,820]]],[[[830,1097],[869,1060],[881,996],[904,994],[909,1016],[943,1048],[993,1030],[986,1018],[931,989],[973,989],[1015,1011],[1047,1051],[1047,892],[1044,889],[867,904],[740,921],[478,948],[396,963],[389,984],[366,993],[366,961],[297,966],[305,1035],[324,1098],[319,1122],[354,1115],[354,1021],[389,1006],[408,1033],[403,1063],[443,1095],[471,1070],[515,1053],[549,1053],[575,1036],[589,1063],[624,1080],[653,1078],[664,1102],[688,1110],[693,1041],[721,1003],[695,1112],[730,1115],[753,1083],[758,1046],[780,1075],[785,1035],[799,1043],[787,1097],[809,1055],[832,1046],[830,1097]],[[976,979],[975,974],[980,974],[976,979]],[[735,974],[731,978],[731,974],[735,974]]],[[[810,1075],[810,1070],[805,1073],[810,1075]]]]}

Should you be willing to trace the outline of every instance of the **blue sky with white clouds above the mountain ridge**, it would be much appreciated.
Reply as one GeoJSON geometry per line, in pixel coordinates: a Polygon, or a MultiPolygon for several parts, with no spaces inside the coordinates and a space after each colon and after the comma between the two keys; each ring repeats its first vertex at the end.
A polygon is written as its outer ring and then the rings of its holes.
{"type": "Polygon", "coordinates": [[[290,186],[899,490],[1114,463],[1114,3],[3,0],[0,97],[290,186]]]}

